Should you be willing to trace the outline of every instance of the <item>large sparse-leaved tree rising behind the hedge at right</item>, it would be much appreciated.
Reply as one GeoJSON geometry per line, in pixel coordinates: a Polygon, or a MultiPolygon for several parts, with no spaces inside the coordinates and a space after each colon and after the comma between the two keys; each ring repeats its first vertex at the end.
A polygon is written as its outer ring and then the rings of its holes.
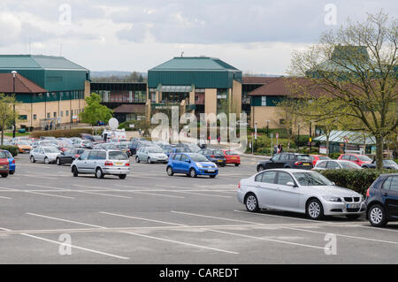
{"type": "Polygon", "coordinates": [[[356,130],[375,137],[379,169],[384,141],[398,126],[397,52],[398,20],[380,11],[363,23],[348,21],[308,50],[295,52],[290,69],[340,103],[344,116],[358,121],[356,130]]]}

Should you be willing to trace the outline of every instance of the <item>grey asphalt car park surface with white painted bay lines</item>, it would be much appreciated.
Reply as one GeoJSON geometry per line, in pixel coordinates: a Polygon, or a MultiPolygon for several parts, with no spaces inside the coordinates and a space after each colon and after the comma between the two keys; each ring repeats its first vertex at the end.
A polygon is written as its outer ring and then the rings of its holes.
{"type": "Polygon", "coordinates": [[[241,163],[192,179],[131,158],[126,179],[96,179],[19,155],[0,180],[0,263],[396,263],[396,224],[247,212],[235,191],[256,159],[241,163]],[[331,236],[336,255],[325,254],[331,236]]]}

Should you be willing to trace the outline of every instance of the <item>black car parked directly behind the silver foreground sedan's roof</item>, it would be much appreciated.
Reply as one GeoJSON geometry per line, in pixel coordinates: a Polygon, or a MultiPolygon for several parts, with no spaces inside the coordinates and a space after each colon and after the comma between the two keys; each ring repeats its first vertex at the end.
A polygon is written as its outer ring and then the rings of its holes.
{"type": "Polygon", "coordinates": [[[261,161],[257,164],[257,171],[264,171],[275,168],[293,168],[311,170],[312,159],[310,155],[297,153],[280,153],[272,156],[268,161],[261,161]]]}

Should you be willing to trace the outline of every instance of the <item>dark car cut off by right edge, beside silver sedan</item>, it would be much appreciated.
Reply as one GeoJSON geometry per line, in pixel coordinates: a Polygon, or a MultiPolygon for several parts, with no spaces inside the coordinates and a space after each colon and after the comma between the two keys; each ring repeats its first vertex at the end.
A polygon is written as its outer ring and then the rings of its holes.
{"type": "Polygon", "coordinates": [[[382,227],[398,221],[398,173],[382,174],[366,192],[366,219],[382,227]]]}

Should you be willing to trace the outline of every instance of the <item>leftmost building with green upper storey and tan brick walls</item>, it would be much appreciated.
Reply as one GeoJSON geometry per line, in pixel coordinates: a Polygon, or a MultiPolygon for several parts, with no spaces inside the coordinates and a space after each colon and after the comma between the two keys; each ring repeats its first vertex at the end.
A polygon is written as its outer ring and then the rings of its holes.
{"type": "Polygon", "coordinates": [[[0,73],[0,93],[15,93],[20,102],[20,126],[45,128],[79,122],[84,98],[90,94],[88,69],[65,57],[0,55],[0,73]],[[17,72],[15,92],[12,71],[17,72]]]}

